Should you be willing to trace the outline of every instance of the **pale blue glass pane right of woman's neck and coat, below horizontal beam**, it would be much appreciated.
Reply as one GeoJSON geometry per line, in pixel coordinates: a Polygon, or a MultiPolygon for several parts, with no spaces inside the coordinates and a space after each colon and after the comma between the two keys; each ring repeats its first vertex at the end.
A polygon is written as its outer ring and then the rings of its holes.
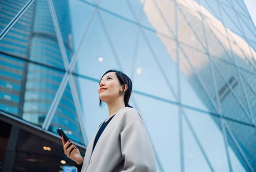
{"type": "Polygon", "coordinates": [[[178,106],[136,92],[133,97],[158,154],[157,161],[162,164],[158,170],[180,171],[178,106]]]}

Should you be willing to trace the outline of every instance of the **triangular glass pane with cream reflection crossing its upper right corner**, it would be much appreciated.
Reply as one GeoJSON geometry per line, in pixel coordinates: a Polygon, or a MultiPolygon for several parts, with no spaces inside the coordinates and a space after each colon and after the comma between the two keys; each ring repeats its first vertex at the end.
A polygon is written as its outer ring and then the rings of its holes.
{"type": "MultiPolygon", "coordinates": [[[[147,52],[151,52],[151,56],[157,59],[159,63],[158,68],[152,67],[152,69],[161,69],[164,72],[166,75],[166,84],[171,88],[172,97],[176,97],[178,93],[176,41],[172,38],[143,29],[140,46],[139,52],[141,56],[139,58],[142,58],[147,52]]],[[[150,58],[144,56],[144,60],[147,61],[147,59],[150,58]]]]}

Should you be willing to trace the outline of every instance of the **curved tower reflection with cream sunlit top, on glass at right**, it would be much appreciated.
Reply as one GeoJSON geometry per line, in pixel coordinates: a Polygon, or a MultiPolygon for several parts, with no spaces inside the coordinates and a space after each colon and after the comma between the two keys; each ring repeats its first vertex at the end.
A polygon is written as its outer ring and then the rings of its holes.
{"type": "Polygon", "coordinates": [[[204,105],[223,115],[225,135],[241,164],[255,171],[255,47],[195,1],[146,1],[144,11],[204,105]]]}

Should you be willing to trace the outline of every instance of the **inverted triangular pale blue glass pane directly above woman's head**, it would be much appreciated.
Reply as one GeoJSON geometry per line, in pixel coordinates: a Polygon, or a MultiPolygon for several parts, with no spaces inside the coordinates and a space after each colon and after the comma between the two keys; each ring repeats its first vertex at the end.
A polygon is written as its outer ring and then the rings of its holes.
{"type": "Polygon", "coordinates": [[[110,46],[113,46],[124,73],[130,75],[135,64],[134,60],[138,56],[137,51],[140,49],[139,26],[109,13],[101,12],[100,14],[106,26],[105,33],[109,35],[108,38],[111,41],[110,46]]]}

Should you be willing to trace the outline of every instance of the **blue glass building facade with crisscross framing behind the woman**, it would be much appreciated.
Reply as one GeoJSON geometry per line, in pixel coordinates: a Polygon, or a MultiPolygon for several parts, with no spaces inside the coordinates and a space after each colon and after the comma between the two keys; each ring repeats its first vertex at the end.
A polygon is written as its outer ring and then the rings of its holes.
{"type": "Polygon", "coordinates": [[[256,171],[255,33],[243,0],[0,1],[1,168],[72,168],[56,129],[84,153],[117,69],[159,172],[256,171]]]}

